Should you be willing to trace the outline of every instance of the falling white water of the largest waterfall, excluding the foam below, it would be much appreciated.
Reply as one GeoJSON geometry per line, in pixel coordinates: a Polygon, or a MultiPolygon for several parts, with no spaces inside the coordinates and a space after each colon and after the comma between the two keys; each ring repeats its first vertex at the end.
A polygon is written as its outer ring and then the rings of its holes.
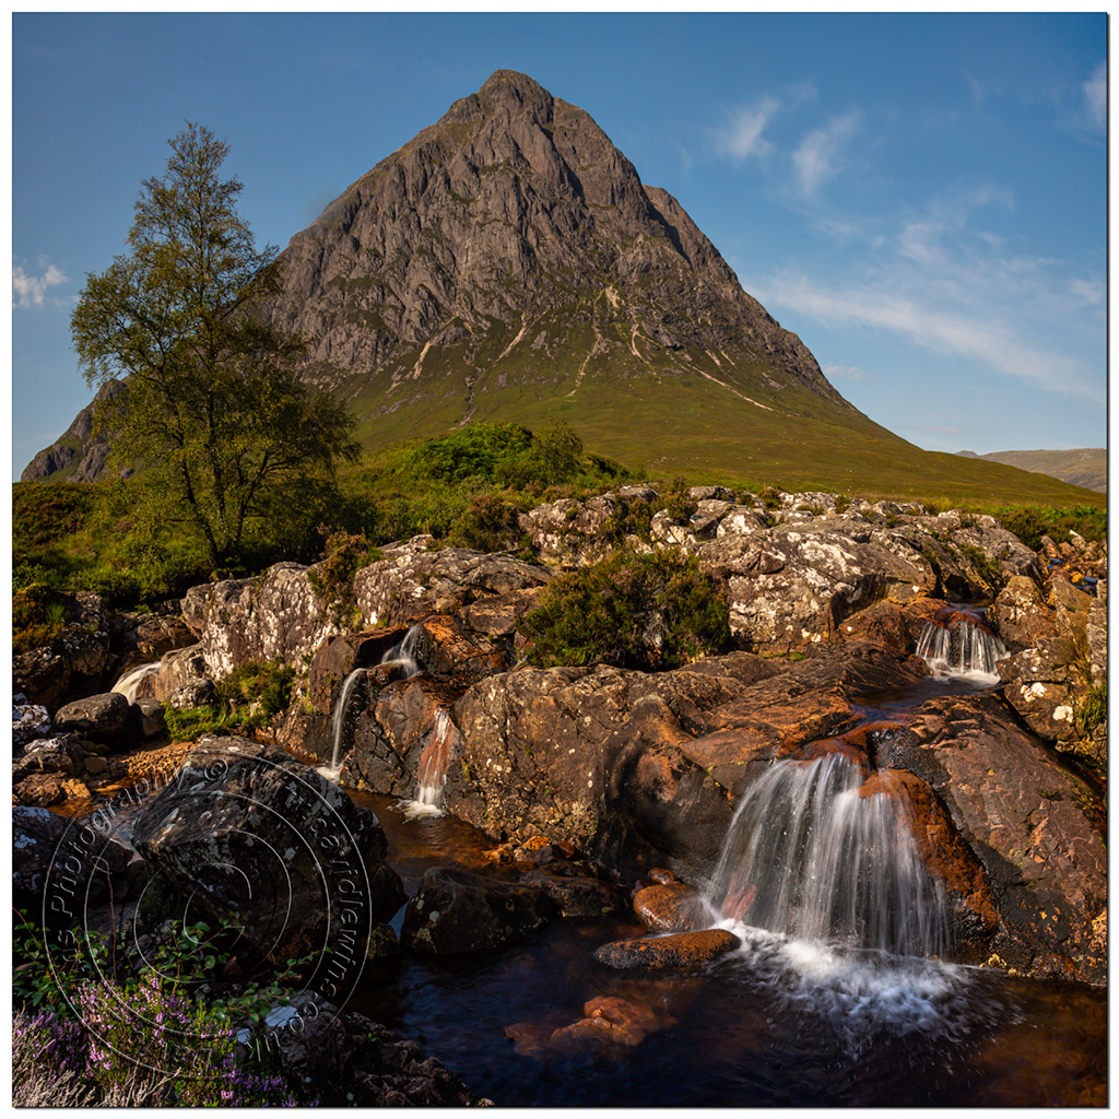
{"type": "Polygon", "coordinates": [[[796,940],[943,957],[943,892],[918,853],[909,803],[863,796],[862,783],[841,754],[775,762],[734,814],[708,904],[796,940]]]}

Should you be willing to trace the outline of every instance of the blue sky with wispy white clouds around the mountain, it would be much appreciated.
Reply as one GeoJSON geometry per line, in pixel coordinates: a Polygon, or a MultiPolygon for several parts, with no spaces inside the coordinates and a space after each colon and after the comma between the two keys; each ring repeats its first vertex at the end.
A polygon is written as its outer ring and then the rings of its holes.
{"type": "Polygon", "coordinates": [[[585,109],[873,420],[1104,445],[1106,62],[1102,13],[17,13],[15,476],[92,397],[69,312],[185,121],[283,246],[500,67],[585,109]]]}

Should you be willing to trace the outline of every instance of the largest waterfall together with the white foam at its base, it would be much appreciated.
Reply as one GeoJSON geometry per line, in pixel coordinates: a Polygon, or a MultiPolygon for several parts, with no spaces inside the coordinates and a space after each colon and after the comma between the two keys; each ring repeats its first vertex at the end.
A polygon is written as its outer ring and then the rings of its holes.
{"type": "Polygon", "coordinates": [[[827,1023],[852,1053],[885,1037],[951,1040],[975,975],[944,963],[941,883],[902,797],[863,792],[840,753],[775,762],[743,794],[705,897],[741,939],[722,970],[827,1023]]]}

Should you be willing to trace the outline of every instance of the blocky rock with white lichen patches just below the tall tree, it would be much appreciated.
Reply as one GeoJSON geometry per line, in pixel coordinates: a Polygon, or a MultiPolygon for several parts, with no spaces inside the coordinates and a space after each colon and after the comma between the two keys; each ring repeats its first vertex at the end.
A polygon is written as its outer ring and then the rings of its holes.
{"type": "MultiPolygon", "coordinates": [[[[339,632],[309,572],[301,564],[279,563],[254,579],[207,587],[198,637],[205,675],[219,680],[247,661],[301,666],[304,655],[339,632]]],[[[195,617],[197,598],[185,600],[185,618],[195,617]]]]}

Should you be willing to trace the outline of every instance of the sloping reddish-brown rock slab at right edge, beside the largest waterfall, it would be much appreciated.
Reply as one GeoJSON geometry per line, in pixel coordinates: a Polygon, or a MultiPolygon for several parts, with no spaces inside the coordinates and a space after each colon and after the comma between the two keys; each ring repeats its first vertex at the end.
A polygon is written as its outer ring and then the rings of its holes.
{"type": "Polygon", "coordinates": [[[991,951],[1038,978],[1102,982],[1107,853],[1099,799],[998,698],[922,704],[880,764],[920,777],[978,857],[996,899],[991,951]]]}

